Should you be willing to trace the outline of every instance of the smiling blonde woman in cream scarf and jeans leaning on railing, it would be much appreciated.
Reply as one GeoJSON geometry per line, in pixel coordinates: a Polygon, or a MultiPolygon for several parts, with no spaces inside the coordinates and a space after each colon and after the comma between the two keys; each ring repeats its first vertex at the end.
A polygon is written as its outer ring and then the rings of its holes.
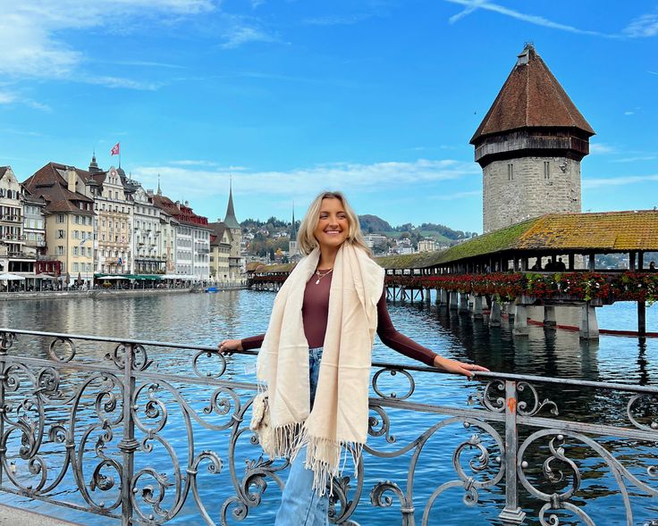
{"type": "Polygon", "coordinates": [[[403,336],[386,310],[384,270],[370,257],[359,218],[339,192],[323,192],[301,221],[306,255],[274,299],[265,335],[226,339],[221,353],[261,347],[276,430],[275,456],[291,458],[276,525],[328,524],[325,488],[367,437],[367,397],[375,330],[385,345],[446,372],[473,376],[479,365],[443,358],[403,336]]]}

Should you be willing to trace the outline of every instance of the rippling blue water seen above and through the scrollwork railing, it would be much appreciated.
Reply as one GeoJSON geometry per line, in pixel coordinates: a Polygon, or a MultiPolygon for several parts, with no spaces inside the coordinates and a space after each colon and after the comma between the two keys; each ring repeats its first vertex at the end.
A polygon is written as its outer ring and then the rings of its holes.
{"type": "MultiPolygon", "coordinates": [[[[145,296],[136,298],[81,298],[80,300],[38,300],[17,301],[5,304],[0,311],[0,326],[17,327],[31,330],[46,330],[55,332],[72,332],[77,334],[95,334],[113,336],[117,338],[139,338],[159,341],[189,342],[198,345],[214,345],[218,340],[226,337],[243,337],[257,334],[266,330],[267,317],[271,309],[274,294],[250,291],[232,291],[216,295],[210,294],[178,294],[165,296],[145,296]]],[[[651,358],[658,350],[655,339],[639,341],[633,338],[602,337],[599,342],[581,342],[578,333],[562,330],[544,330],[541,327],[530,327],[527,338],[512,336],[509,321],[503,319],[499,328],[489,328],[485,320],[472,320],[468,315],[460,314],[434,305],[427,307],[423,304],[390,305],[389,310],[392,321],[396,327],[409,337],[416,339],[421,345],[428,346],[437,352],[459,360],[482,363],[492,370],[502,372],[518,372],[539,376],[559,376],[567,378],[581,378],[584,380],[607,380],[629,383],[648,384],[655,378],[656,363],[651,358]]],[[[49,341],[36,338],[30,343],[27,337],[21,338],[21,349],[26,354],[46,357],[49,341]]],[[[114,351],[113,344],[88,343],[79,345],[77,352],[81,359],[101,361],[105,354],[114,351]]],[[[65,353],[64,347],[58,352],[65,353]]],[[[156,358],[160,372],[190,372],[190,362],[193,352],[187,349],[163,348],[158,349],[153,357],[156,358]]],[[[380,342],[375,344],[375,360],[393,363],[411,363],[408,358],[401,356],[391,349],[384,347],[380,342]]],[[[149,354],[150,357],[150,354],[149,354]]],[[[253,359],[249,357],[236,357],[224,378],[227,380],[253,381],[253,372],[247,369],[253,359]],[[246,370],[247,369],[247,370],[246,370]]],[[[211,357],[205,357],[200,368],[209,373],[216,371],[217,364],[211,357]],[[207,359],[206,359],[207,358],[207,359]]],[[[67,380],[67,388],[74,386],[76,381],[82,381],[85,374],[72,373],[67,380]]],[[[443,375],[415,375],[417,389],[412,397],[413,401],[433,404],[463,406],[477,384],[469,384],[466,380],[443,375]]],[[[389,379],[386,383],[387,392],[404,392],[405,384],[401,375],[389,379]]],[[[143,383],[146,386],[147,383],[143,383]]],[[[198,413],[203,413],[207,400],[211,396],[207,389],[194,385],[174,386],[180,389],[181,395],[190,400],[190,405],[198,413]]],[[[148,387],[144,387],[148,389],[148,387]]],[[[602,419],[607,423],[624,422],[626,420],[626,404],[628,397],[621,395],[595,392],[586,388],[559,388],[557,386],[542,386],[540,399],[549,399],[560,408],[561,417],[575,418],[581,422],[595,422],[602,419]]],[[[527,396],[526,392],[526,396],[527,396]]],[[[171,420],[167,426],[167,438],[173,444],[184,444],[186,430],[181,412],[175,409],[175,401],[170,395],[164,396],[168,405],[174,408],[171,420]]],[[[143,397],[140,405],[144,406],[143,397]]],[[[143,410],[141,410],[143,413],[143,410]]],[[[402,444],[408,443],[418,437],[418,433],[433,426],[440,419],[436,415],[418,413],[409,414],[402,410],[390,412],[392,418],[392,433],[396,442],[388,444],[384,438],[373,438],[370,443],[380,450],[393,451],[402,444]]],[[[63,418],[63,413],[54,413],[53,416],[63,418]]],[[[94,421],[94,413],[89,410],[85,413],[88,422],[94,421]]],[[[97,418],[96,418],[97,422],[97,418]]],[[[530,430],[524,431],[522,438],[529,435],[530,430]]],[[[148,434],[148,433],[147,433],[148,434]]],[[[424,502],[437,484],[443,480],[454,479],[451,467],[452,452],[455,445],[461,440],[468,439],[472,430],[464,430],[462,426],[446,428],[437,433],[428,443],[423,453],[423,459],[417,472],[416,496],[418,502],[424,502]],[[461,429],[455,429],[461,428],[461,429]]],[[[195,434],[195,443],[198,450],[204,448],[217,449],[223,445],[221,455],[225,458],[226,433],[198,432],[195,434]]],[[[115,439],[118,439],[116,437],[115,439]]],[[[487,440],[486,437],[483,439],[487,440]]],[[[20,440],[20,438],[16,438],[20,440]]],[[[489,438],[489,443],[493,441],[489,438]]],[[[248,438],[245,438],[249,442],[248,438]]],[[[569,442],[567,446],[571,458],[578,459],[585,466],[600,468],[603,463],[600,458],[588,459],[586,447],[569,442]]],[[[633,459],[634,472],[641,475],[641,467],[647,465],[647,455],[638,454],[632,444],[618,441],[610,446],[616,455],[633,459]],[[635,456],[634,456],[635,455],[635,456]],[[644,456],[643,456],[644,455],[644,456]]],[[[493,449],[493,447],[492,447],[493,449]]],[[[245,444],[239,448],[243,451],[252,451],[252,446],[245,444]],[[251,449],[249,449],[251,448],[251,449]]],[[[533,451],[528,452],[528,458],[533,469],[540,470],[547,457],[548,446],[541,443],[533,451]]],[[[589,453],[591,454],[591,452],[589,453]]],[[[249,458],[245,453],[244,458],[249,458]]],[[[171,461],[164,450],[156,450],[144,455],[139,462],[148,465],[153,463],[163,465],[168,469],[171,461]]],[[[240,457],[242,458],[242,457],[240,457]]],[[[181,455],[181,461],[187,461],[186,455],[181,455]]],[[[243,462],[243,461],[242,461],[243,462]]],[[[243,469],[243,466],[240,466],[243,469]]],[[[531,469],[529,477],[539,476],[538,471],[531,469]]],[[[495,470],[492,468],[492,473],[495,470]]],[[[384,480],[392,478],[402,483],[406,478],[405,463],[375,462],[367,466],[367,475],[371,480],[384,480]]],[[[646,475],[644,475],[646,478],[646,475]]],[[[89,474],[86,473],[86,479],[89,474]]],[[[219,509],[224,497],[219,497],[216,488],[230,487],[230,480],[226,472],[216,476],[206,486],[202,497],[207,500],[208,508],[219,509]]],[[[610,472],[594,472],[585,482],[587,496],[598,497],[593,503],[599,507],[601,522],[623,523],[623,510],[619,507],[619,493],[611,493],[610,472]],[[607,473],[607,474],[606,474],[607,473]],[[602,507],[603,506],[603,507],[602,507]],[[612,506],[616,514],[607,514],[605,509],[612,506]],[[616,506],[616,507],[615,507],[616,506]],[[601,512],[603,510],[603,514],[601,512]],[[612,517],[612,518],[611,518],[612,517]]],[[[559,486],[556,486],[559,488],[559,486]]],[[[362,511],[354,519],[362,524],[371,524],[376,516],[376,523],[398,523],[399,511],[393,509],[376,509],[369,506],[367,487],[361,496],[362,511]]],[[[266,492],[266,499],[270,501],[269,510],[275,507],[278,498],[278,489],[271,484],[266,492]]],[[[470,521],[474,524],[497,524],[495,518],[501,509],[502,492],[494,488],[490,492],[483,492],[480,502],[475,508],[466,509],[461,504],[463,490],[454,491],[446,504],[432,513],[436,524],[450,524],[470,521]],[[491,506],[485,506],[491,504],[491,506]],[[448,508],[448,511],[445,509],[448,508]]],[[[3,496],[4,498],[4,496],[3,496]]],[[[32,503],[30,503],[32,504],[32,503]]],[[[537,514],[537,501],[525,494],[522,505],[528,512],[537,514]]],[[[422,506],[421,506],[422,507],[422,506]]],[[[359,508],[360,509],[360,508],[359,508]]],[[[177,519],[179,524],[196,524],[198,515],[193,506],[186,508],[177,519]],[[191,517],[197,517],[192,519],[191,517]]],[[[642,515],[644,516],[644,515],[642,515]]],[[[258,520],[267,523],[265,506],[249,515],[249,521],[244,523],[257,523],[258,520]]],[[[216,520],[216,514],[214,515],[216,520]]],[[[80,519],[80,517],[79,517],[80,519]]],[[[417,517],[418,519],[418,517],[417,517]]],[[[637,517],[640,519],[640,517],[637,517]]],[[[96,521],[96,519],[94,519],[96,521]]],[[[101,524],[101,519],[97,522],[101,524]]],[[[231,522],[240,523],[240,522],[231,522]]],[[[527,524],[534,524],[532,519],[527,524]]],[[[561,524],[571,524],[562,520],[561,524]]]]}

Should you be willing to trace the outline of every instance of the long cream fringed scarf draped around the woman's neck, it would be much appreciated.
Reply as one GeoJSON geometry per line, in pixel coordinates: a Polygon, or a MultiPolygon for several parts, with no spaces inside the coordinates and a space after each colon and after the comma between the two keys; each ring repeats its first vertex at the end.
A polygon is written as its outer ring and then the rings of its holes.
{"type": "MultiPolygon", "coordinates": [[[[310,411],[308,342],[301,307],[306,284],[316,271],[319,249],[302,259],[274,299],[265,340],[257,359],[257,379],[266,385],[274,427],[271,457],[294,458],[307,446],[313,487],[341,472],[342,455],[359,463],[367,438],[368,382],[377,302],[384,269],[350,243],[333,264],[329,314],[316,399],[310,411]]],[[[312,287],[313,285],[311,285],[312,287]]]]}

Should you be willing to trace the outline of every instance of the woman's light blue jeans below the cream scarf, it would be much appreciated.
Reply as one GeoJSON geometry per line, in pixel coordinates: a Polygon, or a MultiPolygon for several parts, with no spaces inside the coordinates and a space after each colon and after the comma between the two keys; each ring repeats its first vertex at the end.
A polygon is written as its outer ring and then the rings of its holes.
{"type": "MultiPolygon", "coordinates": [[[[320,374],[322,347],[308,350],[308,377],[311,408],[316,400],[317,377],[320,374]]],[[[281,507],[275,526],[325,526],[329,524],[329,496],[319,497],[313,489],[313,471],[304,467],[306,447],[291,463],[291,472],[283,488],[281,507]]]]}

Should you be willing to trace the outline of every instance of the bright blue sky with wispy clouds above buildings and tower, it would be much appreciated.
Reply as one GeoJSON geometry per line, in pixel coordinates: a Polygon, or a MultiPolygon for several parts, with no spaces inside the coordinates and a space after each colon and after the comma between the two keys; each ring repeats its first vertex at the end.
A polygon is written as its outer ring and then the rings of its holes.
{"type": "Polygon", "coordinates": [[[468,145],[534,42],[595,129],[583,210],[658,205],[658,1],[0,0],[0,164],[116,163],[224,217],[342,189],[482,230],[468,145]]]}

